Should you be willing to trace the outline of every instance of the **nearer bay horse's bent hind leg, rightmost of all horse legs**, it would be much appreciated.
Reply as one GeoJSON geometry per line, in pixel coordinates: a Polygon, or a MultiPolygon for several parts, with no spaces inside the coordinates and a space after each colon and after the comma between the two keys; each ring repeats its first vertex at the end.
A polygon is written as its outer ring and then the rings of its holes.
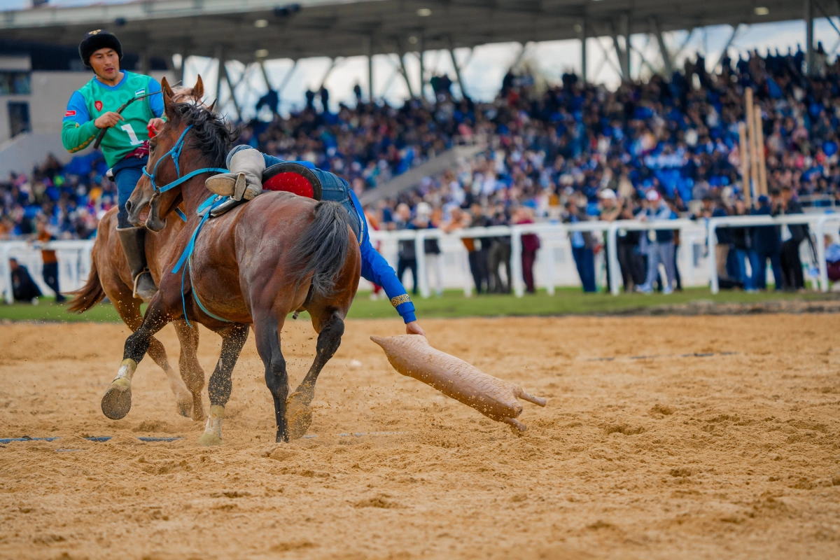
{"type": "Polygon", "coordinates": [[[318,334],[318,346],[316,347],[315,360],[301,381],[294,393],[286,399],[286,419],[289,426],[289,438],[297,439],[306,434],[312,425],[312,399],[315,398],[315,384],[318,381],[318,374],[323,366],[333,357],[341,345],[341,336],[344,334],[344,318],[336,310],[328,312],[326,317],[320,318],[318,326],[321,332],[318,334]]]}

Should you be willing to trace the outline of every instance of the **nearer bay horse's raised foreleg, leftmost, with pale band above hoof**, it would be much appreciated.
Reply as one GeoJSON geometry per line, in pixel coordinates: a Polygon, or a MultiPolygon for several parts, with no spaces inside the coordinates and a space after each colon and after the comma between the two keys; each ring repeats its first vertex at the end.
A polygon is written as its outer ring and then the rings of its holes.
{"type": "Polygon", "coordinates": [[[108,390],[102,396],[102,413],[112,420],[125,417],[131,410],[131,378],[137,370],[137,364],[149,350],[155,332],[160,331],[170,321],[163,307],[158,292],[152,298],[140,327],[125,340],[123,363],[119,365],[116,379],[108,385],[108,390]]]}

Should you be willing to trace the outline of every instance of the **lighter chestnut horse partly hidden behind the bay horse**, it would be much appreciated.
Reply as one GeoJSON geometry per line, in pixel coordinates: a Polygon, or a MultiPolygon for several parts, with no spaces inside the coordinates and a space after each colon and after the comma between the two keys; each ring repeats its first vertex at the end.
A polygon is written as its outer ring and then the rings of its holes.
{"type": "MultiPolygon", "coordinates": [[[[193,87],[176,87],[173,96],[173,101],[176,102],[200,103],[204,96],[202,77],[198,76],[193,87]]],[[[134,297],[131,271],[123,253],[123,244],[116,235],[116,228],[117,208],[113,207],[99,221],[97,239],[91,255],[90,275],[81,289],[72,292],[76,297],[68,309],[83,313],[108,296],[119,317],[134,332],[143,321],[143,315],[140,313],[140,304],[143,301],[134,297]]],[[[176,238],[183,228],[184,222],[180,219],[167,220],[165,228],[160,232],[146,233],[146,261],[155,284],[160,283],[163,266],[169,262],[171,254],[176,250],[176,238]]],[[[201,391],[204,387],[204,371],[198,364],[196,355],[198,329],[187,326],[184,321],[177,321],[175,330],[181,343],[181,357],[178,359],[180,376],[171,368],[166,358],[166,350],[156,338],[150,341],[149,355],[169,379],[172,392],[176,396],[178,411],[183,416],[192,417],[193,420],[202,420],[204,406],[201,391]]]]}

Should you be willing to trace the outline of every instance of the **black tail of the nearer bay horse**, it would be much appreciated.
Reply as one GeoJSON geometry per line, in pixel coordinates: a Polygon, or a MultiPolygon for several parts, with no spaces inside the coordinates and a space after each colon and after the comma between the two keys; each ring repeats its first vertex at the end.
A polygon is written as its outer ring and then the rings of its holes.
{"type": "Polygon", "coordinates": [[[297,240],[291,252],[297,283],[312,274],[312,295],[330,296],[336,277],[344,267],[350,243],[347,210],[338,202],[319,201],[315,219],[297,240]]]}

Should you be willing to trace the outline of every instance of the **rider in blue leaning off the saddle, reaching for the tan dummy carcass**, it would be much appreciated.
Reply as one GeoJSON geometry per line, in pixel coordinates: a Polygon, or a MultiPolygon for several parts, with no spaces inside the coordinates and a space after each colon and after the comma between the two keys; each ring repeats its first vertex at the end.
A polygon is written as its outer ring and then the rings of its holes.
{"type": "MultiPolygon", "coordinates": [[[[269,168],[271,165],[284,162],[285,160],[276,158],[273,155],[262,154],[250,146],[245,145],[232,149],[227,159],[228,169],[233,172],[231,175],[235,175],[240,170],[248,175],[254,175],[249,178],[249,190],[251,192],[246,191],[244,198],[251,198],[259,194],[262,188],[263,170],[269,168]],[[260,154],[263,160],[262,162],[259,161],[260,158],[257,157],[257,154],[260,154]],[[236,156],[235,159],[234,156],[236,156]]],[[[425,336],[426,333],[423,332],[423,328],[417,323],[417,317],[414,313],[414,303],[408,296],[406,289],[402,286],[402,282],[396,277],[396,272],[388,264],[388,261],[381,254],[377,253],[373,245],[370,244],[370,233],[367,221],[365,220],[365,212],[362,209],[359,199],[349,188],[347,181],[328,171],[319,170],[309,162],[298,161],[295,163],[305,165],[318,176],[318,179],[321,181],[322,200],[339,202],[347,210],[350,227],[353,228],[356,238],[359,239],[359,249],[362,256],[362,277],[365,280],[370,280],[375,284],[381,285],[385,289],[385,293],[391,300],[391,305],[396,308],[396,312],[400,314],[402,320],[406,323],[406,332],[408,334],[425,336]]],[[[217,175],[215,185],[219,184],[218,179],[223,179],[223,177],[217,175]]],[[[213,182],[207,181],[207,187],[211,191],[217,194],[228,194],[229,196],[229,193],[220,192],[213,185],[213,182]]],[[[228,186],[224,188],[228,188],[228,186]]]]}

